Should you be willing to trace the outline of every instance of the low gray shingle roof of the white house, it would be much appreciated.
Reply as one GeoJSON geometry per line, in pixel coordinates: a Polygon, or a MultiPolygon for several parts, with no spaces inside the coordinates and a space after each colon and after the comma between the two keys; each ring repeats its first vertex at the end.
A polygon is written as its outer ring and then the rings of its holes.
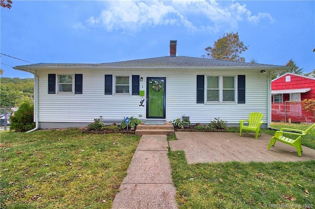
{"type": "Polygon", "coordinates": [[[189,56],[169,57],[162,56],[148,59],[136,59],[109,63],[38,63],[18,67],[284,67],[279,65],[266,65],[247,62],[232,62],[217,59],[197,58],[189,56]]]}

